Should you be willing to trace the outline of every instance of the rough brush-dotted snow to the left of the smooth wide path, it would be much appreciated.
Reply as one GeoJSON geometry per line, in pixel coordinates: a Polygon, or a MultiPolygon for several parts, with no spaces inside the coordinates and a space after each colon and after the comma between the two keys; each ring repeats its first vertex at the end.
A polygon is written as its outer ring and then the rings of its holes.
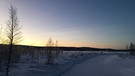
{"type": "MultiPolygon", "coordinates": [[[[36,52],[36,55],[38,53],[36,52]]],[[[92,56],[94,54],[90,51],[63,51],[63,54],[55,59],[54,64],[46,65],[44,55],[39,54],[31,58],[29,54],[24,54],[20,61],[10,68],[10,76],[59,76],[75,64],[92,56]]],[[[0,72],[0,76],[4,76],[4,72],[0,72]]]]}

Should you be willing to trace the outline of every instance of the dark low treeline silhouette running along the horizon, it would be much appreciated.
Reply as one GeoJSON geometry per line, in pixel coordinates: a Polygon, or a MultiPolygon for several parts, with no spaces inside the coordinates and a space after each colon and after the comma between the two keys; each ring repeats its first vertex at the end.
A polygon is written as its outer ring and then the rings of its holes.
{"type": "MultiPolygon", "coordinates": [[[[5,46],[8,47],[8,45],[2,45],[0,44],[0,46],[5,46]]],[[[130,50],[127,49],[109,49],[109,48],[93,48],[93,47],[64,47],[64,46],[29,46],[29,45],[14,45],[16,47],[22,47],[22,48],[34,48],[37,50],[42,50],[42,49],[48,49],[48,48],[57,48],[59,50],[63,50],[63,51],[112,51],[112,52],[119,52],[119,51],[123,51],[123,52],[130,52],[130,50]]]]}

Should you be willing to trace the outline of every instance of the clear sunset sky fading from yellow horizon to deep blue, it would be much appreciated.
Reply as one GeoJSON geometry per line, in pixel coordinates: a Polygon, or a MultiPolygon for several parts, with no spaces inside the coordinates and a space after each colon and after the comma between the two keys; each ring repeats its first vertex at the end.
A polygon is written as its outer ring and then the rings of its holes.
{"type": "Polygon", "coordinates": [[[126,48],[135,43],[134,0],[0,0],[0,26],[17,8],[22,45],[126,48]]]}

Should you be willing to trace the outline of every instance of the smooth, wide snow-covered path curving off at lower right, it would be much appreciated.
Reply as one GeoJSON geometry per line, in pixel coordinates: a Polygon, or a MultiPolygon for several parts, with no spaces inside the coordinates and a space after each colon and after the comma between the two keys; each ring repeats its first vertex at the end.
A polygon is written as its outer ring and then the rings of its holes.
{"type": "Polygon", "coordinates": [[[77,64],[61,76],[135,76],[135,60],[100,55],[77,64]]]}

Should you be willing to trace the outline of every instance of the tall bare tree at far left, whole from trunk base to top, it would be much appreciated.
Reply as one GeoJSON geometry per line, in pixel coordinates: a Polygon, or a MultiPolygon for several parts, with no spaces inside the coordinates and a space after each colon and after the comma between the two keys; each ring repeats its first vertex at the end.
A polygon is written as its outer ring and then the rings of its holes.
{"type": "Polygon", "coordinates": [[[19,21],[17,17],[17,9],[12,5],[9,8],[9,20],[7,21],[6,36],[8,38],[9,52],[8,52],[8,61],[6,75],[9,75],[9,67],[11,62],[11,55],[13,52],[14,44],[20,42],[21,40],[21,27],[19,26],[19,21]]]}

